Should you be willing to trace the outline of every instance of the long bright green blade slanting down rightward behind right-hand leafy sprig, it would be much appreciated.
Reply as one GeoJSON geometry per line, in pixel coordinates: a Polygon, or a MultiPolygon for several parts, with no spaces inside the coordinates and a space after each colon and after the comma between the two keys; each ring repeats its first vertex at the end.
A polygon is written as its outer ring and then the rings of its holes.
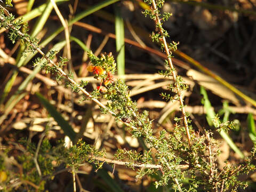
{"type": "MultiPolygon", "coordinates": [[[[215,119],[216,114],[212,108],[211,102],[208,99],[207,93],[203,86],[200,86],[200,91],[201,91],[201,94],[203,95],[202,103],[206,110],[207,122],[209,123],[210,126],[212,126],[212,125],[215,126],[215,123],[213,123],[213,119],[215,119]]],[[[220,124],[221,122],[219,121],[218,123],[220,124]]],[[[235,151],[235,153],[237,153],[239,155],[240,158],[244,158],[244,154],[242,153],[242,151],[240,149],[238,149],[238,147],[235,145],[233,140],[229,137],[229,135],[224,130],[220,131],[220,135],[228,143],[230,148],[233,149],[235,151]]]]}

